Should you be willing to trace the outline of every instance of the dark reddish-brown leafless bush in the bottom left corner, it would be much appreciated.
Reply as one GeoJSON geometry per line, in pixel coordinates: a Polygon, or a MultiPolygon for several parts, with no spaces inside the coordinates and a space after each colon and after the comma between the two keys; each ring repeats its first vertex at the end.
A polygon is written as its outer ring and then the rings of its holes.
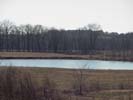
{"type": "Polygon", "coordinates": [[[13,67],[1,70],[0,100],[38,100],[30,74],[13,67]]]}

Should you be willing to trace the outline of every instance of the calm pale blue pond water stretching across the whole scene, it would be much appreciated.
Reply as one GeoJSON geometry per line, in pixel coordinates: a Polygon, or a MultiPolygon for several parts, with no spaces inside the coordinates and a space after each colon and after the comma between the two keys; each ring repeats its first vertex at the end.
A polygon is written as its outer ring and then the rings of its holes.
{"type": "Polygon", "coordinates": [[[133,62],[102,60],[62,60],[62,59],[7,59],[0,60],[0,66],[91,68],[91,69],[129,69],[133,62]]]}

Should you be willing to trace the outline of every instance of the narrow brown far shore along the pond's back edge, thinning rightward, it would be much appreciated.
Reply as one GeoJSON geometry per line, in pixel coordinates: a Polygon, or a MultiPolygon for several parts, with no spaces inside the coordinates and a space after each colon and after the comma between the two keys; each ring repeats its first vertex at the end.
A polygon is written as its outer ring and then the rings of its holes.
{"type": "Polygon", "coordinates": [[[133,62],[130,57],[103,56],[99,54],[65,54],[47,52],[0,52],[0,59],[71,59],[71,60],[104,60],[104,61],[128,61],[133,62]]]}

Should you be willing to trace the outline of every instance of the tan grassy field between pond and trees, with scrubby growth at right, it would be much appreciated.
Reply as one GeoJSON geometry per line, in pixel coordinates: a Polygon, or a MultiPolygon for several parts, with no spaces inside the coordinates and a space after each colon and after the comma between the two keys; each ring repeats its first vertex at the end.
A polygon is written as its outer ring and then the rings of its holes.
{"type": "Polygon", "coordinates": [[[133,61],[133,52],[129,51],[125,55],[122,52],[112,53],[110,51],[99,51],[95,54],[65,54],[46,52],[0,52],[0,59],[97,59],[97,60],[122,60],[133,61]]]}

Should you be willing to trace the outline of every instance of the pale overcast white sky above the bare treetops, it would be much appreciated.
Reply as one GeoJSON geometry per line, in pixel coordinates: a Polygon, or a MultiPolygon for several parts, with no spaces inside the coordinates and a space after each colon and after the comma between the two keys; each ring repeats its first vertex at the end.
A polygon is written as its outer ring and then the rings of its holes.
{"type": "Polygon", "coordinates": [[[77,29],[100,24],[108,32],[133,32],[133,0],[0,0],[0,21],[77,29]]]}

